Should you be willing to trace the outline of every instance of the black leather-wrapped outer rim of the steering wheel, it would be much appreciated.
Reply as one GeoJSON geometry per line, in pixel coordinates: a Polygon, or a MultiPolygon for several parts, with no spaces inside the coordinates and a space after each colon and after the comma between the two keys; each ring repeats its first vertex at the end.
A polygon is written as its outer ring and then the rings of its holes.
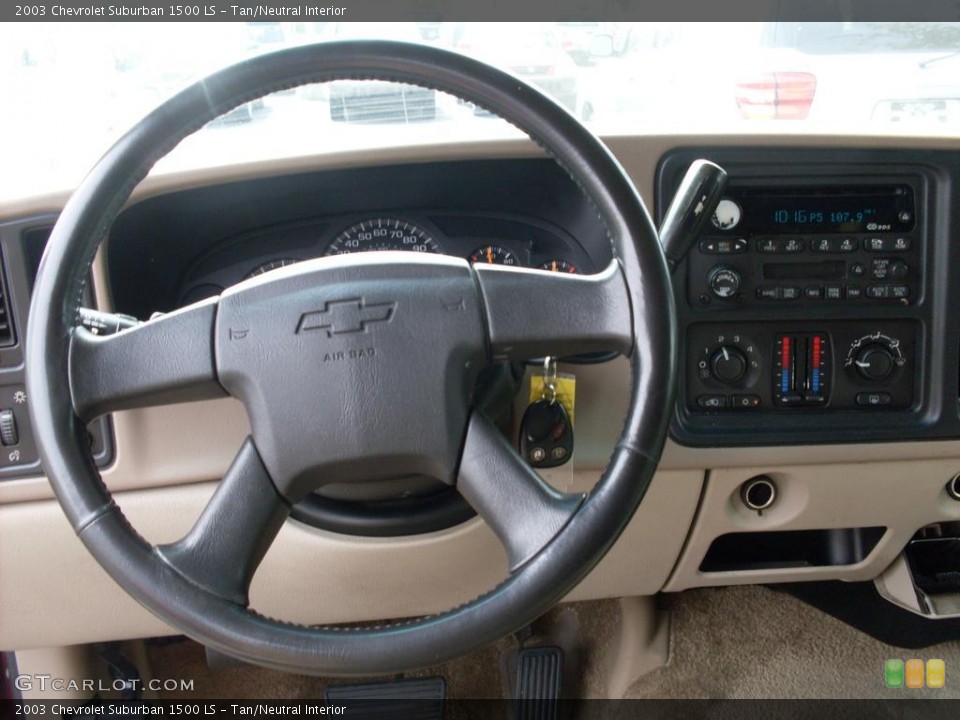
{"type": "MultiPolygon", "coordinates": [[[[487,279],[491,287],[509,281],[487,279]]],[[[40,454],[57,498],[90,552],[132,597],[187,635],[243,660],[313,674],[385,674],[442,662],[515,631],[556,604],[596,565],[630,521],[656,469],[673,401],[675,347],[673,296],[653,224],[623,169],[572,116],[516,78],[453,53],[393,42],[327,43],[262,56],[211,76],[151,113],[104,156],[50,238],[30,310],[27,387],[40,454]],[[608,310],[629,318],[632,336],[630,409],[623,430],[601,480],[582,507],[577,503],[562,531],[481,598],[439,615],[349,631],[263,617],[242,600],[212,593],[185,576],[176,556],[143,540],[113,502],[89,455],[77,411],[77,371],[71,369],[78,362],[71,355],[80,354],[76,320],[84,279],[99,243],[153,164],[243,102],[336,79],[450,92],[530,135],[580,185],[606,224],[616,258],[611,272],[618,276],[612,282],[622,282],[629,305],[608,310]]],[[[241,458],[250,452],[255,450],[248,444],[241,458]]],[[[463,463],[468,461],[465,456],[463,463]]],[[[487,468],[491,476],[499,469],[487,468]]]]}

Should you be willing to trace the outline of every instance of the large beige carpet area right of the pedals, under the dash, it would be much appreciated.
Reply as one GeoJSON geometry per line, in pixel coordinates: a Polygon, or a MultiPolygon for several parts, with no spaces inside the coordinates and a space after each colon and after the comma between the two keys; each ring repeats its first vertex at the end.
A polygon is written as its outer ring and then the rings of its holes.
{"type": "Polygon", "coordinates": [[[901,650],[763,587],[693,590],[665,600],[670,661],[634,683],[628,698],[960,698],[958,642],[901,650]],[[946,685],[889,689],[887,658],[940,658],[946,685]]]}

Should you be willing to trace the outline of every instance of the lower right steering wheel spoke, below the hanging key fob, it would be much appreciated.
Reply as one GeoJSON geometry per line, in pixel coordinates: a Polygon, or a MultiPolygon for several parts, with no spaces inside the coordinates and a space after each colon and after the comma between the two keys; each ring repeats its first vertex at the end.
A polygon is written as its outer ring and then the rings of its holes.
{"type": "Polygon", "coordinates": [[[480,413],[470,419],[457,489],[503,543],[510,572],[553,540],[584,500],[545,483],[480,413]]]}

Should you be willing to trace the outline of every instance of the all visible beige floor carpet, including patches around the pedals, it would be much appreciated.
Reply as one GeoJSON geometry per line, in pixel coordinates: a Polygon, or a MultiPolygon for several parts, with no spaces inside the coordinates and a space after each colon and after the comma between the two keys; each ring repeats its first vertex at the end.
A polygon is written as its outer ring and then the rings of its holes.
{"type": "MultiPolygon", "coordinates": [[[[669,663],[634,683],[628,698],[960,698],[960,643],[900,650],[762,587],[693,590],[663,600],[671,612],[669,663]],[[884,660],[913,657],[943,659],[946,687],[884,687],[884,660]]],[[[549,638],[567,651],[568,696],[601,694],[605,650],[618,617],[612,600],[574,603],[534,624],[534,644],[549,638]]],[[[516,646],[513,638],[501,640],[410,676],[443,675],[453,699],[501,698],[503,658],[516,646]]],[[[211,670],[203,649],[187,640],[152,647],[150,655],[155,677],[193,678],[190,697],[197,700],[317,698],[328,683],[345,682],[249,666],[211,670]]]]}

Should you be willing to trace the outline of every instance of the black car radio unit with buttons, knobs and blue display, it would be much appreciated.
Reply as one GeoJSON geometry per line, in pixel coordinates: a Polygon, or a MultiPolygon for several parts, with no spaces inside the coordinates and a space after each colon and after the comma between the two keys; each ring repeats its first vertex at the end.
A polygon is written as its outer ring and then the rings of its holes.
{"type": "Polygon", "coordinates": [[[909,182],[734,186],[689,255],[688,300],[702,309],[914,303],[915,196],[909,182]]]}

